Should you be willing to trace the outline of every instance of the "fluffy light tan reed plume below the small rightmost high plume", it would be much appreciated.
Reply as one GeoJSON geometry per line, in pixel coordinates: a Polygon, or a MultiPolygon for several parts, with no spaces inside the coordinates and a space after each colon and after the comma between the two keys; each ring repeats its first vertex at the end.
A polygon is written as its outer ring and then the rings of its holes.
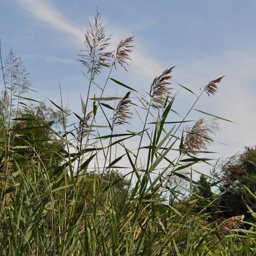
{"type": "MultiPolygon", "coordinates": [[[[199,118],[195,125],[191,128],[186,127],[186,136],[183,141],[183,146],[189,151],[206,150],[207,146],[211,144],[212,134],[219,130],[215,119],[206,121],[204,118],[199,118]]],[[[196,152],[189,152],[188,154],[197,155],[196,152]]]]}

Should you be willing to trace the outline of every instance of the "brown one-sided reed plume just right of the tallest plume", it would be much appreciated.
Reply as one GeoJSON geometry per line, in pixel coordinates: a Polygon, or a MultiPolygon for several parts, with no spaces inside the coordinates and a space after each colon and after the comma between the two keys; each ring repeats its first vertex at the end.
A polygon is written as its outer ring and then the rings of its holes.
{"type": "Polygon", "coordinates": [[[114,66],[116,68],[116,63],[121,65],[126,71],[126,67],[128,66],[127,60],[131,60],[130,53],[132,52],[132,45],[134,36],[127,37],[122,40],[116,47],[116,57],[114,61],[114,66]]]}

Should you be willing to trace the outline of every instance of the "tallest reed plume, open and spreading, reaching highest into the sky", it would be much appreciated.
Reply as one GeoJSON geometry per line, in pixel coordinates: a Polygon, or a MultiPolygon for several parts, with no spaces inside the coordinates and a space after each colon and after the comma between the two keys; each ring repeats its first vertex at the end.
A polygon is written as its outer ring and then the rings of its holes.
{"type": "Polygon", "coordinates": [[[113,52],[106,51],[110,45],[110,37],[106,36],[105,26],[102,24],[100,14],[97,12],[94,16],[94,23],[89,22],[89,28],[85,32],[84,54],[78,54],[81,62],[88,70],[87,73],[93,75],[99,74],[103,67],[110,67],[110,59],[113,52]]]}

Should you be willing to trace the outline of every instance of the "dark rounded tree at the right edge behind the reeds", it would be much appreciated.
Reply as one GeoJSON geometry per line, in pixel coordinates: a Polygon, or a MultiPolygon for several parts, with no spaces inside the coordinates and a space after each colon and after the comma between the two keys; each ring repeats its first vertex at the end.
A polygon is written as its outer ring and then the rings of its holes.
{"type": "Polygon", "coordinates": [[[221,171],[219,211],[225,218],[242,214],[251,218],[247,205],[256,211],[252,195],[256,195],[256,147],[246,147],[242,155],[231,157],[221,171]]]}

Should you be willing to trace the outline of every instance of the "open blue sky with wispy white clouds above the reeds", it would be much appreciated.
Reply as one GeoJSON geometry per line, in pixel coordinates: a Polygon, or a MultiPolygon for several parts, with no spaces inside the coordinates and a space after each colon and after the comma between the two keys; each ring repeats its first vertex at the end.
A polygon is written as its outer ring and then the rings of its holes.
{"type": "MultiPolygon", "coordinates": [[[[79,94],[85,95],[86,80],[75,60],[97,6],[115,43],[135,36],[129,73],[116,71],[113,77],[148,90],[156,75],[175,66],[174,81],[198,92],[210,80],[225,75],[218,94],[197,105],[237,123],[220,122],[222,130],[216,140],[229,146],[219,144],[215,150],[226,157],[256,144],[253,0],[2,0],[4,54],[12,49],[21,55],[38,91],[35,97],[58,102],[60,81],[69,108],[81,111],[79,94]]],[[[108,90],[110,95],[113,92],[108,90]]],[[[181,113],[190,103],[191,95],[180,92],[177,108],[181,113]]]]}

